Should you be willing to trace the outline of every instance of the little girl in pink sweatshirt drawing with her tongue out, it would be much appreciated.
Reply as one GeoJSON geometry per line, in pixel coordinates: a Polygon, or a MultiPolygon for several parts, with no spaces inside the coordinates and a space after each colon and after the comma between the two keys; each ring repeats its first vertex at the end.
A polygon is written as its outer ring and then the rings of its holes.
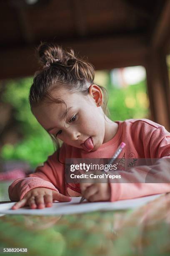
{"type": "MultiPolygon", "coordinates": [[[[30,108],[37,121],[59,145],[43,166],[28,177],[16,179],[9,187],[12,209],[23,206],[51,207],[53,200],[67,202],[83,196],[90,202],[115,201],[170,191],[169,183],[68,183],[66,158],[111,158],[123,141],[126,147],[119,159],[122,171],[130,159],[131,174],[147,172],[148,166],[135,167],[134,159],[170,159],[170,133],[147,119],[113,122],[105,115],[105,89],[93,83],[94,68],[54,44],[40,44],[43,65],[30,88],[30,108]],[[60,149],[60,150],[59,150],[60,149]]],[[[160,162],[156,165],[161,169],[160,162]]]]}

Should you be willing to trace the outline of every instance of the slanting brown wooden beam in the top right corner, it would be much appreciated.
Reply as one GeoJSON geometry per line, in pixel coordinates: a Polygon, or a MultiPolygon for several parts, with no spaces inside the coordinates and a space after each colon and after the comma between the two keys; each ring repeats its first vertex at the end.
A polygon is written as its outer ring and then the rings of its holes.
{"type": "Polygon", "coordinates": [[[154,50],[162,49],[168,53],[170,49],[170,1],[167,0],[163,6],[162,13],[151,35],[151,46],[154,50]]]}

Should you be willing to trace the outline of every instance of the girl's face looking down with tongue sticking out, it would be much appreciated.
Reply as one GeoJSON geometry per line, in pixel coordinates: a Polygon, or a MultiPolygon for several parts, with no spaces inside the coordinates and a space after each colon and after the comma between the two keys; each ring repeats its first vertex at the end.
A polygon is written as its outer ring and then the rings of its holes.
{"type": "Polygon", "coordinates": [[[42,103],[33,109],[33,114],[45,130],[68,145],[87,152],[95,151],[105,143],[107,137],[102,108],[97,107],[97,103],[102,100],[100,92],[91,92],[85,96],[80,92],[70,93],[65,89],[54,91],[52,96],[67,104],[66,119],[66,106],[58,103],[42,103]],[[82,144],[90,137],[93,148],[85,149],[82,144]]]}

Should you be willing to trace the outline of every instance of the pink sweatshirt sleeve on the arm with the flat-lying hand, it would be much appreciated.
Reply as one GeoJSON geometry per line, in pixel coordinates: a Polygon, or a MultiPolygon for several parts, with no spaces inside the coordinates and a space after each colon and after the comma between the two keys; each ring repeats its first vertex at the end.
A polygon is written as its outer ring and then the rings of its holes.
{"type": "MultiPolygon", "coordinates": [[[[65,145],[60,148],[60,161],[64,160],[65,145]]],[[[33,188],[45,187],[65,195],[64,164],[57,160],[57,151],[47,158],[43,166],[38,166],[35,172],[25,178],[16,179],[8,188],[10,200],[23,199],[33,188]]]]}

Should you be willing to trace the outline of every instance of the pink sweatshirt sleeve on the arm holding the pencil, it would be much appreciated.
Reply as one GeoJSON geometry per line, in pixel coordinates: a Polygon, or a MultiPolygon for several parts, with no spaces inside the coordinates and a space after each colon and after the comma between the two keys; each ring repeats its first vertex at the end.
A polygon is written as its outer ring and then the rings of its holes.
{"type": "Polygon", "coordinates": [[[111,202],[170,192],[170,133],[160,126],[146,139],[150,139],[150,158],[158,160],[153,165],[141,165],[130,168],[128,172],[119,172],[124,181],[109,182],[111,202]]]}

